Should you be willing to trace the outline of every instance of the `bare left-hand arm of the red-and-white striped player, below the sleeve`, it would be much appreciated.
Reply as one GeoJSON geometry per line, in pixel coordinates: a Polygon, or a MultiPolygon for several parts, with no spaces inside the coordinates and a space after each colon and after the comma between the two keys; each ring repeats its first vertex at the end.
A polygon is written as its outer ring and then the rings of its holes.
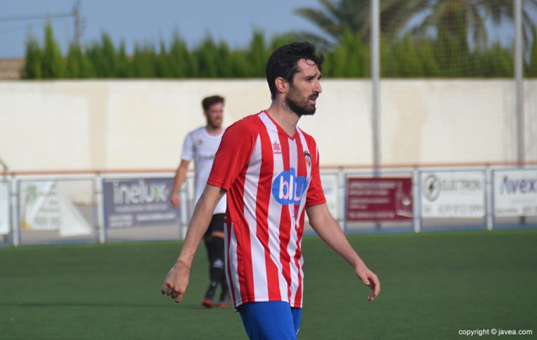
{"type": "Polygon", "coordinates": [[[175,302],[181,302],[183,299],[186,286],[189,285],[190,268],[194,255],[196,255],[201,238],[210,224],[212,212],[215,211],[219,200],[225,193],[224,189],[207,184],[196,208],[194,208],[179,258],[168,272],[161,289],[162,294],[171,297],[175,302]]]}

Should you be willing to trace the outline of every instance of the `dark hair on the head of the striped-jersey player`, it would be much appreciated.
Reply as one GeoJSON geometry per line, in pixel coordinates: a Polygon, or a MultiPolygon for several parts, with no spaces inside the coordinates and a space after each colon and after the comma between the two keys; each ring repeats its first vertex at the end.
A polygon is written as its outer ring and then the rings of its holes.
{"type": "Polygon", "coordinates": [[[322,53],[317,53],[316,50],[315,45],[307,41],[290,43],[274,50],[269,60],[266,61],[265,67],[266,81],[271,89],[272,100],[276,99],[276,93],[278,93],[274,83],[276,78],[282,77],[292,83],[294,74],[299,72],[299,60],[312,60],[322,72],[322,63],[325,62],[325,57],[322,53]]]}

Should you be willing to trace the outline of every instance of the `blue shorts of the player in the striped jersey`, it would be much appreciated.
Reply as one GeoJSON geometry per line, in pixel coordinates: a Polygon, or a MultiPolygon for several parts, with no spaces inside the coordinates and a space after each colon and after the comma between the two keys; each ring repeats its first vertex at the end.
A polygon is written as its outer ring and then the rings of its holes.
{"type": "Polygon", "coordinates": [[[237,308],[250,340],[296,340],[302,308],[285,301],[247,302],[237,308]]]}

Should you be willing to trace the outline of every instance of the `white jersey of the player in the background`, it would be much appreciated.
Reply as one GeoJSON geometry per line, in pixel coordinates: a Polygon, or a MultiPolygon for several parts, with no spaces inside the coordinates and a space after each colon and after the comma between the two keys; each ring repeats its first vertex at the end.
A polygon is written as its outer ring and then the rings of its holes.
{"type": "MultiPolygon", "coordinates": [[[[205,126],[202,126],[191,131],[184,139],[181,159],[194,161],[194,204],[198,202],[201,193],[205,189],[205,184],[207,184],[207,179],[211,172],[212,161],[215,159],[222,135],[224,135],[224,130],[220,135],[213,136],[209,135],[209,132],[205,130],[205,126]]],[[[226,213],[226,196],[219,201],[214,213],[226,213]]]]}

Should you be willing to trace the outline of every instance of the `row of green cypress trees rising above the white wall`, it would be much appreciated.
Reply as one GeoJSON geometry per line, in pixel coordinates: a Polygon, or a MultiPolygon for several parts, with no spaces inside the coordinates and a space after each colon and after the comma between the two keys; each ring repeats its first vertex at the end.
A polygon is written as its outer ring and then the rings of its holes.
{"type": "MultiPolygon", "coordinates": [[[[512,53],[499,44],[470,51],[464,13],[457,6],[445,11],[438,25],[437,39],[381,40],[381,76],[383,77],[498,77],[512,76],[512,53]]],[[[57,79],[88,77],[142,78],[245,78],[263,77],[266,58],[271,50],[297,40],[294,34],[274,36],[267,46],[263,32],[252,33],[247,48],[229,48],[225,41],[215,43],[206,37],[189,49],[175,32],[170,47],[160,41],[158,50],[150,44],[136,45],[132,56],[125,43],[114,46],[108,34],[100,41],[81,48],[69,46],[66,58],[53,37],[50,22],[45,27],[45,43],[29,34],[26,41],[23,79],[57,79]]],[[[333,50],[322,51],[325,76],[369,76],[369,46],[360,36],[346,29],[333,50]]],[[[526,60],[526,76],[537,76],[537,43],[533,43],[526,60]]]]}

